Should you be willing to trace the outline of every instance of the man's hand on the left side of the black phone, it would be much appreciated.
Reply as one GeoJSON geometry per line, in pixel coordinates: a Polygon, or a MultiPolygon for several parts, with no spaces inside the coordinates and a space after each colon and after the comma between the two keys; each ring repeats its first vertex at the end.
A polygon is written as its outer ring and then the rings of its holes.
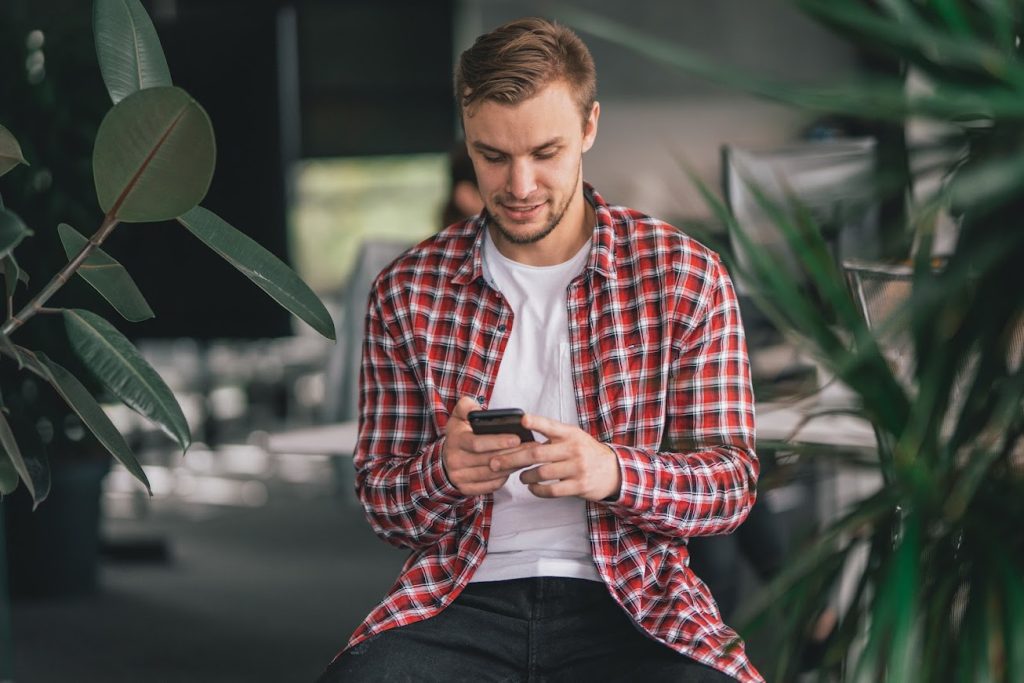
{"type": "Polygon", "coordinates": [[[520,443],[514,434],[474,434],[469,426],[469,414],[480,410],[480,404],[463,396],[455,404],[452,417],[444,427],[444,447],[441,462],[449,481],[464,496],[492,494],[505,483],[511,470],[494,471],[490,459],[495,456],[531,449],[537,443],[520,443]]]}

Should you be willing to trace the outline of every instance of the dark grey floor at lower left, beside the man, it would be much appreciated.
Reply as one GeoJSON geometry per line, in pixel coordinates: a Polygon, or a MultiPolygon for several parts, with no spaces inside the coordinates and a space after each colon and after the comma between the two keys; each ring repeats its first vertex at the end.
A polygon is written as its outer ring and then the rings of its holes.
{"type": "Polygon", "coordinates": [[[311,682],[403,559],[344,496],[283,484],[260,506],[166,505],[104,535],[168,555],[104,560],[92,596],[15,600],[18,683],[311,682]]]}

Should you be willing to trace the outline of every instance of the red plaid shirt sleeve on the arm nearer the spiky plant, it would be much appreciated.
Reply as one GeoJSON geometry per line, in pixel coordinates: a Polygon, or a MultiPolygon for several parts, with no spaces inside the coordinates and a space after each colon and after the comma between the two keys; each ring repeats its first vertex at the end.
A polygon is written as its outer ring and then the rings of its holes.
{"type": "Polygon", "coordinates": [[[717,260],[697,327],[672,369],[659,450],[610,444],[622,487],[613,514],[674,538],[728,533],[756,497],[754,391],[728,274],[717,260]]]}

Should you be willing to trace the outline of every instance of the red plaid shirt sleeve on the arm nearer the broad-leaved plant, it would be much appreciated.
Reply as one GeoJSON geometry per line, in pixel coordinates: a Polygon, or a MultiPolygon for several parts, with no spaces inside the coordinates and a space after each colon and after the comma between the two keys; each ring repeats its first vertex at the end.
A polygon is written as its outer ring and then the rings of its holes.
{"type": "Polygon", "coordinates": [[[419,549],[457,524],[465,497],[449,480],[437,434],[407,345],[385,325],[375,288],[362,346],[355,487],[374,531],[388,543],[419,549]]]}

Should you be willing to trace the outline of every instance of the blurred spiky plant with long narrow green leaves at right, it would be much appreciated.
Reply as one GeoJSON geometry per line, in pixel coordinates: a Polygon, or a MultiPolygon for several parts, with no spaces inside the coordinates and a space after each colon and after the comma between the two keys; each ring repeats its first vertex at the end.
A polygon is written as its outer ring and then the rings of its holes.
{"type": "MultiPolygon", "coordinates": [[[[806,211],[761,194],[836,319],[817,312],[772,257],[732,261],[733,276],[859,398],[879,432],[882,487],[823,529],[750,605],[784,637],[770,680],[796,676],[795,654],[843,566],[856,587],[841,605],[821,678],[857,681],[1024,679],[1024,367],[1014,335],[1024,325],[1024,60],[1018,3],[941,0],[801,0],[800,7],[863,50],[898,60],[895,74],[801,87],[738,73],[685,47],[580,11],[582,30],[766,97],[898,127],[941,126],[931,194],[897,188],[918,249],[905,252],[911,294],[897,322],[912,340],[902,383],[854,305],[843,273],[806,211]],[[913,69],[927,84],[908,89],[913,69]],[[931,258],[935,215],[959,222],[955,251],[931,258]],[[858,551],[858,549],[861,549],[858,551]],[[865,561],[849,565],[863,552],[865,561]]],[[[911,144],[911,160],[920,159],[911,144]]],[[[920,179],[920,164],[911,164],[920,179]]],[[[897,174],[899,175],[899,174],[897,174]]],[[[696,176],[693,176],[696,179],[696,176]]],[[[732,236],[749,239],[713,191],[701,191],[732,236]]],[[[755,188],[756,190],[757,188],[755,188]]],[[[887,188],[892,191],[892,187],[887,188]]],[[[894,240],[894,243],[904,242],[894,240]]],[[[905,241],[910,242],[910,241],[905,241]]],[[[1019,339],[1019,337],[1018,337],[1019,339]]]]}

